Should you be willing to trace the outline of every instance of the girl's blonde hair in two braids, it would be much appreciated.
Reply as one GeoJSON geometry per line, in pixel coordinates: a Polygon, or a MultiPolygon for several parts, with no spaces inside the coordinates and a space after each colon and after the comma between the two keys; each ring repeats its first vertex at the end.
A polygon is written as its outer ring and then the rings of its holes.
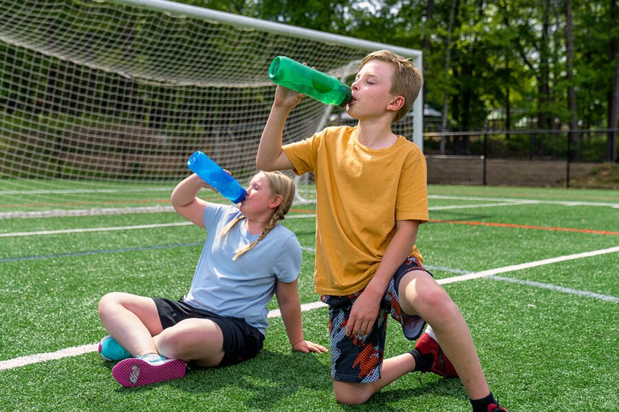
{"type": "MultiPolygon", "coordinates": [[[[268,225],[266,225],[259,238],[248,244],[243,249],[238,250],[237,254],[234,258],[232,258],[232,260],[237,260],[241,255],[243,255],[243,253],[250,251],[254,246],[258,244],[258,242],[260,242],[264,239],[265,236],[267,236],[267,234],[275,227],[275,224],[279,222],[279,220],[284,220],[285,215],[290,210],[290,206],[292,205],[292,201],[294,200],[295,186],[294,181],[292,181],[290,177],[286,176],[282,172],[258,172],[254,176],[257,176],[261,173],[264,174],[269,181],[269,189],[271,191],[271,195],[280,195],[281,203],[279,204],[277,209],[275,209],[273,215],[271,216],[271,220],[269,221],[268,225]]],[[[226,236],[228,232],[230,232],[230,229],[232,229],[232,227],[234,227],[244,218],[245,216],[239,216],[238,218],[231,220],[230,223],[228,223],[228,225],[226,225],[226,227],[221,230],[219,236],[221,236],[222,238],[226,236]]]]}

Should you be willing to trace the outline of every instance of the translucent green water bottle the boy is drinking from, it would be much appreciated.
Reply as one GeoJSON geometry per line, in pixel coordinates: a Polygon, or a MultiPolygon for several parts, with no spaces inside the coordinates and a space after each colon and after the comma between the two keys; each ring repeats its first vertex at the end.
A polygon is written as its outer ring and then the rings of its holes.
{"type": "Polygon", "coordinates": [[[273,59],[269,67],[269,78],[280,86],[325,104],[345,107],[352,97],[350,87],[337,78],[285,56],[273,59]]]}

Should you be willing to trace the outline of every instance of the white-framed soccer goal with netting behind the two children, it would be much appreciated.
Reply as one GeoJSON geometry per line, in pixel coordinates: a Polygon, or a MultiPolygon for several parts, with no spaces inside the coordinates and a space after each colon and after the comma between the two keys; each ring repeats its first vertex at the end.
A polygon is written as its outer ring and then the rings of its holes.
{"type": "MultiPolygon", "coordinates": [[[[0,203],[156,207],[145,194],[169,198],[195,150],[246,184],[275,90],[272,58],[350,82],[382,48],[421,66],[415,49],[171,1],[0,0],[0,203]]],[[[395,131],[422,146],[421,99],[413,107],[395,131]]],[[[304,99],[284,143],[339,113],[304,99]]],[[[312,201],[312,176],[297,183],[298,201],[312,201]]]]}

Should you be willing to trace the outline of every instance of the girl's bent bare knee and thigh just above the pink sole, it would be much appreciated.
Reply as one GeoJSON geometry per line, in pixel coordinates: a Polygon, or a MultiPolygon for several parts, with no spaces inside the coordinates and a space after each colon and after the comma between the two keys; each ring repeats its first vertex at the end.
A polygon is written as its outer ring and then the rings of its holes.
{"type": "Polygon", "coordinates": [[[166,358],[215,367],[224,358],[224,334],[208,319],[185,319],[155,336],[159,353],[166,358]]]}

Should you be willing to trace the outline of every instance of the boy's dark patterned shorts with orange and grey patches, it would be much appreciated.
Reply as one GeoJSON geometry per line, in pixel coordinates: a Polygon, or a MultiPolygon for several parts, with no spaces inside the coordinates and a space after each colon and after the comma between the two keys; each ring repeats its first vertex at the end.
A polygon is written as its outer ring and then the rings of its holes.
{"type": "Polygon", "coordinates": [[[422,334],[426,322],[420,317],[402,314],[398,299],[398,286],[400,286],[402,277],[414,270],[426,271],[417,258],[409,256],[389,282],[387,291],[380,302],[376,323],[366,336],[354,334],[346,336],[346,325],[350,310],[363,292],[362,290],[346,296],[323,295],[321,297],[321,300],[329,305],[331,376],[333,380],[369,383],[380,379],[389,314],[393,319],[400,322],[407,339],[414,341],[422,334]]]}

